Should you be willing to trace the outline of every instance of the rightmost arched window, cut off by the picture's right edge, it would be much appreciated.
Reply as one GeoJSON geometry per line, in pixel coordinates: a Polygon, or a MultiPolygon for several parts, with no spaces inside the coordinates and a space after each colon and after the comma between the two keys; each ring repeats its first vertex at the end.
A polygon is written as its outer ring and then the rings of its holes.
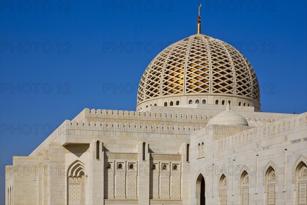
{"type": "Polygon", "coordinates": [[[300,162],[296,168],[296,204],[307,204],[307,166],[300,162]]]}

